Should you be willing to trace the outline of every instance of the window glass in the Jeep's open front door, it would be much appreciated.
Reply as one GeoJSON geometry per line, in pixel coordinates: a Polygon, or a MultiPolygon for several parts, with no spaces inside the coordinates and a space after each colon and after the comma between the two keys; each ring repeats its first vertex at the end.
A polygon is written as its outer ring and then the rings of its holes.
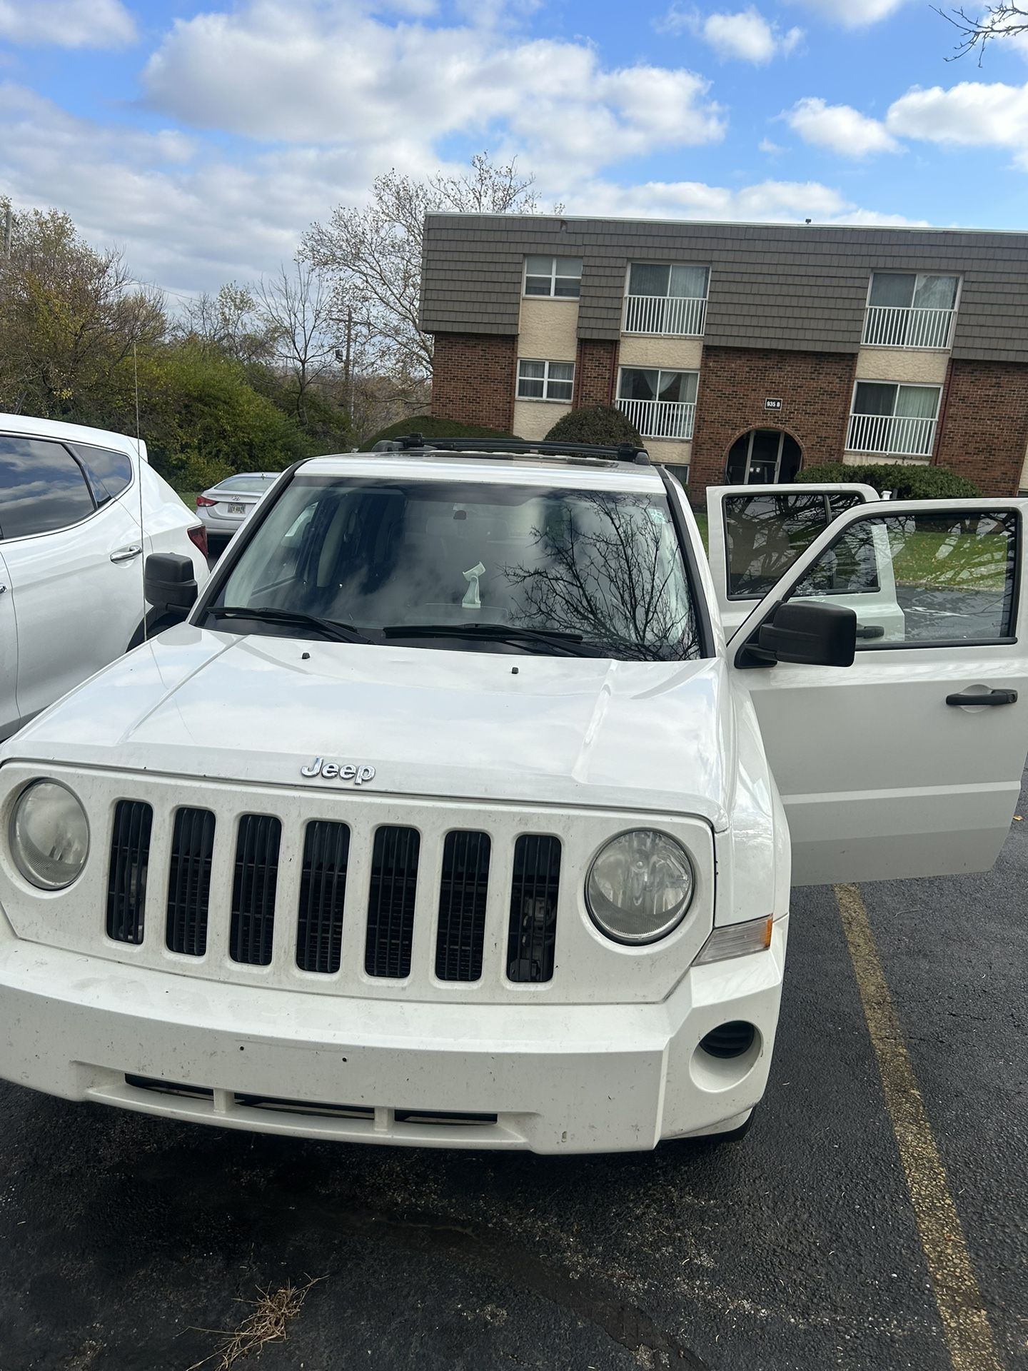
{"type": "Polygon", "coordinates": [[[1013,636],[1017,540],[1013,511],[869,515],[842,532],[788,598],[857,596],[864,650],[996,642],[1013,636]]]}

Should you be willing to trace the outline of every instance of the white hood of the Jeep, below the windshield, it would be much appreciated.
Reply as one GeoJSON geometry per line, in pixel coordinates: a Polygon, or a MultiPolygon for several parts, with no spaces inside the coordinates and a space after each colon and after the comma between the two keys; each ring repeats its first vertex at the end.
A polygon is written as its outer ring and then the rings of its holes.
{"type": "Polygon", "coordinates": [[[181,625],[106,668],[0,761],[376,794],[689,813],[725,828],[724,664],[614,662],[240,636],[181,625]]]}

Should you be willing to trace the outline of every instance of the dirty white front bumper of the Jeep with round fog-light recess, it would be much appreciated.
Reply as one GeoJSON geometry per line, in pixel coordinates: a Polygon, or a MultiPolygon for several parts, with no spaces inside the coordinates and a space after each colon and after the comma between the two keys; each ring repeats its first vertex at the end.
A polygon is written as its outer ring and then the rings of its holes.
{"type": "Polygon", "coordinates": [[[732,1127],[763,1094],[787,925],[776,921],[768,951],[694,968],[661,1004],[585,1006],[223,984],[3,930],[0,1076],[66,1100],[296,1137],[644,1150],[732,1127]],[[754,1046],[707,1056],[699,1039],[729,1020],[755,1024],[754,1046]]]}

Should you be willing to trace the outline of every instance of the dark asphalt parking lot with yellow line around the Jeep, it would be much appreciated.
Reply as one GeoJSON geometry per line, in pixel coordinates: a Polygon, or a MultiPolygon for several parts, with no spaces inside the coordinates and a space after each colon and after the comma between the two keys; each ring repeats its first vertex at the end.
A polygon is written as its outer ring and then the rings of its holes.
{"type": "Polygon", "coordinates": [[[186,1371],[200,1330],[310,1278],[262,1371],[1028,1366],[1023,812],[988,876],[862,887],[898,1030],[865,1019],[836,893],[795,893],[772,1086],[733,1146],[378,1150],[0,1086],[0,1371],[186,1371]]]}

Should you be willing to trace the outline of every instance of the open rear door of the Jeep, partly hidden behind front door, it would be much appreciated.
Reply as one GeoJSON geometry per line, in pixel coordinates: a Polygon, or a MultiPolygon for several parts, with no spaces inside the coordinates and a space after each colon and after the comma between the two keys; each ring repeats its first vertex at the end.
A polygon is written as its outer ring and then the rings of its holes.
{"type": "Polygon", "coordinates": [[[843,510],[877,500],[870,485],[710,485],[707,558],[731,635],[843,510]]]}

